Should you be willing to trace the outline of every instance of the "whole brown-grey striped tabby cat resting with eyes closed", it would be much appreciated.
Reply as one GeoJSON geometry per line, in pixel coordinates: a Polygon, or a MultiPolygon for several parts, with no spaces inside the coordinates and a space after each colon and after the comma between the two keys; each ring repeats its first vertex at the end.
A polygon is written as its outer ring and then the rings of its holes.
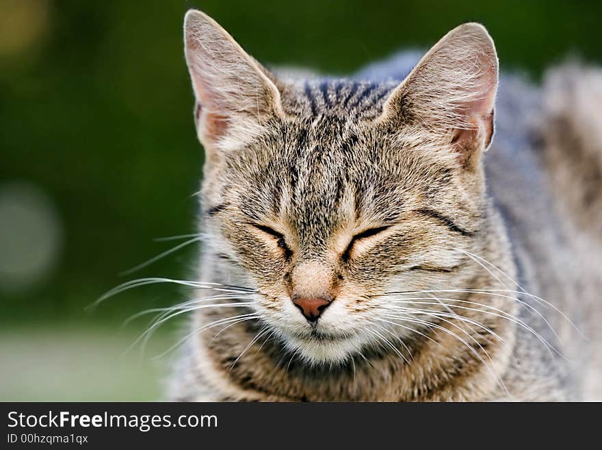
{"type": "Polygon", "coordinates": [[[498,92],[466,23],[339,79],[184,29],[203,244],[171,399],[602,399],[599,69],[498,92]]]}

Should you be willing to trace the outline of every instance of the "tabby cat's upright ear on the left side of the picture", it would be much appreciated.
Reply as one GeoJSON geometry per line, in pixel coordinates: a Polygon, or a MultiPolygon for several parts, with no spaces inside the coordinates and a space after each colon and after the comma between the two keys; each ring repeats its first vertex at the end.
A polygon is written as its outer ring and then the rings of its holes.
{"type": "Polygon", "coordinates": [[[184,46],[198,138],[206,151],[242,147],[282,114],[280,92],[267,70],[207,14],[186,13],[184,46]]]}

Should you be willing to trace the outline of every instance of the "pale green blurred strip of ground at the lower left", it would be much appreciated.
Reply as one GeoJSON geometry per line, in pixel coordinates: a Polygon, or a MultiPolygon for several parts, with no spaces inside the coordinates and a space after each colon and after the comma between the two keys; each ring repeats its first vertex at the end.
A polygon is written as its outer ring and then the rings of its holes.
{"type": "Polygon", "coordinates": [[[6,327],[0,332],[0,399],[165,399],[173,356],[156,357],[170,347],[174,335],[159,332],[142,354],[140,347],[125,353],[139,336],[132,330],[116,332],[98,326],[6,327]]]}

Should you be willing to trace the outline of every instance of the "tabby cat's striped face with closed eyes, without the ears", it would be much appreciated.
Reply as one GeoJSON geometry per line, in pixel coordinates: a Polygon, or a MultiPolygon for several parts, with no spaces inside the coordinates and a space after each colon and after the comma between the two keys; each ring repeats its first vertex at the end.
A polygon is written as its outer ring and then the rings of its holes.
{"type": "Polygon", "coordinates": [[[400,306],[383,293],[464,277],[466,257],[451,250],[469,245],[479,203],[445,164],[392,146],[374,126],[281,123],[211,177],[211,247],[239,267],[234,284],[259,291],[263,321],[313,361],[339,360],[382,334],[400,306]],[[297,298],[330,303],[310,321],[297,298]]]}

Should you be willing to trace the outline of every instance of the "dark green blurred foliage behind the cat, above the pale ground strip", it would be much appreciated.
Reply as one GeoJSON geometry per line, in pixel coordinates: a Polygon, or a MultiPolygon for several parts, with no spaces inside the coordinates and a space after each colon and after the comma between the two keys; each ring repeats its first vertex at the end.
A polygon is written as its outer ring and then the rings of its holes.
{"type": "Polygon", "coordinates": [[[0,294],[0,321],[120,321],[181,296],[135,290],[83,310],[134,276],[192,275],[194,249],[117,273],[173,244],[153,238],[196,227],[202,149],[181,37],[194,7],[258,60],[324,72],[427,47],[465,21],[488,27],[503,70],[538,77],[570,53],[602,60],[602,3],[592,1],[0,0],[0,185],[35,184],[64,227],[53,273],[0,294]]]}

